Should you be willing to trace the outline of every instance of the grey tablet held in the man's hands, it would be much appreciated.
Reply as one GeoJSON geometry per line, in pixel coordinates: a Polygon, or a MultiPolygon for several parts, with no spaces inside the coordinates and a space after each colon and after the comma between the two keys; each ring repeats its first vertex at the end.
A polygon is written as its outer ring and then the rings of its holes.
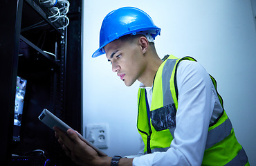
{"type": "MultiPolygon", "coordinates": [[[[72,129],[66,123],[62,122],[62,120],[57,118],[57,116],[53,115],[53,113],[51,113],[47,109],[44,109],[38,118],[44,124],[46,124],[46,126],[50,127],[51,129],[53,129],[53,127],[57,127],[64,132],[66,132],[68,129],[72,129]]],[[[53,129],[53,131],[54,131],[54,129],[53,129]]],[[[80,133],[78,133],[77,131],[75,131],[75,132],[77,133],[77,135],[79,136],[79,138],[81,140],[83,140],[84,142],[86,142],[86,144],[88,144],[93,149],[95,149],[95,151],[98,152],[99,156],[107,156],[107,154],[105,154],[103,151],[101,151],[98,147],[95,147],[91,142],[89,142],[89,140],[86,140],[80,133]]]]}

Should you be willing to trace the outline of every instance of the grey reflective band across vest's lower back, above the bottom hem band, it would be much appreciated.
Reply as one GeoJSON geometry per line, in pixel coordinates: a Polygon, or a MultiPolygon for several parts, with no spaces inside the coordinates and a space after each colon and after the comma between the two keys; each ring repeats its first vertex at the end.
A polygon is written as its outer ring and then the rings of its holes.
{"type": "Polygon", "coordinates": [[[214,129],[208,131],[207,141],[205,145],[205,149],[208,149],[209,147],[212,147],[213,145],[217,144],[221,140],[225,139],[232,130],[232,124],[228,119],[226,119],[225,122],[220,124],[218,127],[215,127],[214,129]]]}

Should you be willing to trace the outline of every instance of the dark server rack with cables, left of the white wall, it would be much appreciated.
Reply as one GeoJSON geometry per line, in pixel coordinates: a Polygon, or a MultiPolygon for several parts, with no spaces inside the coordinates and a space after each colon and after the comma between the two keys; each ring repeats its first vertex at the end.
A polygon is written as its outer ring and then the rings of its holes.
{"type": "Polygon", "coordinates": [[[7,165],[74,165],[58,144],[54,132],[38,120],[46,108],[81,131],[81,16],[82,0],[70,1],[66,21],[38,0],[0,2],[0,136],[1,162],[7,165]],[[13,125],[17,76],[27,80],[24,108],[14,140],[13,125]],[[44,156],[31,155],[42,149],[44,156]],[[28,156],[28,154],[30,156],[28,156]]]}

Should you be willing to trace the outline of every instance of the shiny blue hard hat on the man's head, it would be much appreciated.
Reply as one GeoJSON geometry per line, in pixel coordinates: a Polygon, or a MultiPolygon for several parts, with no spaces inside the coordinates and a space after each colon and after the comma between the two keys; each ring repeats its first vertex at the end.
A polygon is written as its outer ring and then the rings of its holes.
{"type": "Polygon", "coordinates": [[[143,31],[149,31],[154,39],[161,32],[161,28],[155,26],[152,18],[143,10],[124,7],[109,12],[100,28],[100,48],[93,53],[92,57],[104,54],[104,46],[115,39],[129,34],[136,35],[143,31]]]}

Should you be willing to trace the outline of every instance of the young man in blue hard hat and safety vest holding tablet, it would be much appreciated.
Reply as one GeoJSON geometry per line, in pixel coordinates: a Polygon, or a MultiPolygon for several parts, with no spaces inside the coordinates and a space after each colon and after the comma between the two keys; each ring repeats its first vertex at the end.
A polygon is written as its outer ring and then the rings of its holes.
{"type": "Polygon", "coordinates": [[[98,156],[68,130],[59,129],[67,156],[78,165],[249,165],[223,109],[216,82],[192,57],[160,59],[154,39],[161,29],[138,8],[119,8],[102,22],[100,48],[125,85],[140,81],[138,131],[143,156],[98,156]]]}

